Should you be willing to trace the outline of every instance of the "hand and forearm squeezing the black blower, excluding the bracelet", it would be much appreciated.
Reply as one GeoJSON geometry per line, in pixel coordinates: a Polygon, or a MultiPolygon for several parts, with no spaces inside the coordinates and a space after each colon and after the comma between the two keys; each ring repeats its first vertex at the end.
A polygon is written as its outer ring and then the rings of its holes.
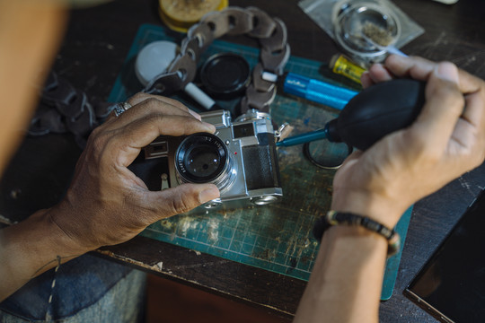
{"type": "MultiPolygon", "coordinates": [[[[333,180],[331,208],[393,227],[423,196],[485,158],[485,83],[451,63],[389,57],[365,86],[394,77],[426,81],[426,103],[407,129],[348,157],[333,180]]],[[[361,227],[325,232],[295,322],[377,322],[387,241],[361,227]],[[323,318],[323,319],[322,319],[323,318]]]]}

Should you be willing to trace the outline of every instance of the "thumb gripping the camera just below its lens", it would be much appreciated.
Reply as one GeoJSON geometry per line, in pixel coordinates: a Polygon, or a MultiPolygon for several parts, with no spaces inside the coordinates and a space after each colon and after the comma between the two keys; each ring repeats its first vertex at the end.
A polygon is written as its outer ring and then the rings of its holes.
{"type": "Polygon", "coordinates": [[[182,214],[220,196],[214,184],[182,184],[159,192],[149,192],[146,202],[154,211],[154,221],[182,214]]]}

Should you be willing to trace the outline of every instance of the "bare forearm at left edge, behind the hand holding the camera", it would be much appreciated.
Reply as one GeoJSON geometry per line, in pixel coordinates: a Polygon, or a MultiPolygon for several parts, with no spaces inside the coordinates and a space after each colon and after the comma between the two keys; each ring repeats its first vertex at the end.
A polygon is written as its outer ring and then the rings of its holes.
{"type": "Polygon", "coordinates": [[[50,209],[0,231],[0,301],[31,278],[80,256],[84,250],[51,221],[50,209]]]}

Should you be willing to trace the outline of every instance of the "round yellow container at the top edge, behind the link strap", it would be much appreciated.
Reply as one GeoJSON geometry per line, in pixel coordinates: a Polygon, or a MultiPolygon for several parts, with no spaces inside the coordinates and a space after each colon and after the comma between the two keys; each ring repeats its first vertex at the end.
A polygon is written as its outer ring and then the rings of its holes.
{"type": "Polygon", "coordinates": [[[159,14],[173,31],[187,32],[206,13],[219,11],[228,0],[158,0],[159,14]]]}

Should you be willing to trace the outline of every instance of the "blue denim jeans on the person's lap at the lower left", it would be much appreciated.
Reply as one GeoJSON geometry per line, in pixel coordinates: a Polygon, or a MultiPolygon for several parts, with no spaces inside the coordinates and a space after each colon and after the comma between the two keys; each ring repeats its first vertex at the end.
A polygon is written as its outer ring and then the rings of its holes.
{"type": "Polygon", "coordinates": [[[144,304],[145,273],[84,255],[1,302],[0,322],[137,322],[144,304]]]}

